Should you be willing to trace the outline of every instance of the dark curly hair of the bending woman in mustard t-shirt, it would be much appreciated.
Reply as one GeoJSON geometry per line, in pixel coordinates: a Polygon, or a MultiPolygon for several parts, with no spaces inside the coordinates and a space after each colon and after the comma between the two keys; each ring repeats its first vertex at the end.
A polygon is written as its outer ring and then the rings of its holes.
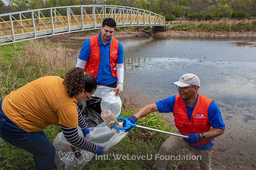
{"type": "Polygon", "coordinates": [[[69,97],[80,94],[82,89],[89,93],[97,89],[95,78],[90,73],[85,73],[79,67],[72,68],[66,73],[63,84],[66,86],[69,97]]]}

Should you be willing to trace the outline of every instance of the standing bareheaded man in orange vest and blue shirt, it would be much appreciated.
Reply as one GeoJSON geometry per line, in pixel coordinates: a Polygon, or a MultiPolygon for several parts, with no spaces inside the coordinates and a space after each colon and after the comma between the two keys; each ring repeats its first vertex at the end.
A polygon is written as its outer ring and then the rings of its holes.
{"type": "Polygon", "coordinates": [[[105,18],[101,33],[87,39],[80,50],[76,67],[92,74],[97,85],[116,88],[116,95],[123,91],[124,58],[122,44],[112,37],[116,22],[105,18]]]}

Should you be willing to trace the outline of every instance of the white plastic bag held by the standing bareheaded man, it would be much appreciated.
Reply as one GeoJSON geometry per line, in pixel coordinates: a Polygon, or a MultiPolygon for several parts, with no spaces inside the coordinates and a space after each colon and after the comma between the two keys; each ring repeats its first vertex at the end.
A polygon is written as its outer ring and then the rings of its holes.
{"type": "Polygon", "coordinates": [[[113,90],[113,87],[97,86],[93,96],[102,98],[102,111],[108,109],[114,114],[115,117],[118,117],[121,113],[122,102],[119,95],[116,96],[116,92],[113,90]]]}

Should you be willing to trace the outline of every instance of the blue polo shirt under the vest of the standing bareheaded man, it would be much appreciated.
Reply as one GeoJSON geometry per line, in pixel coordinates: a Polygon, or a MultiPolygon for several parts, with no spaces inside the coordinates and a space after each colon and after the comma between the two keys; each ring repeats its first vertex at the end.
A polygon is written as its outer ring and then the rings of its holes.
{"type": "MultiPolygon", "coordinates": [[[[103,44],[103,42],[100,39],[100,35],[98,36],[98,45],[100,46],[100,64],[98,68],[98,73],[96,77],[96,81],[99,84],[111,84],[117,82],[117,78],[113,77],[111,74],[111,67],[110,67],[110,43],[112,40],[112,37],[107,42],[107,44],[103,44]]],[[[89,55],[90,55],[90,39],[87,39],[84,44],[82,45],[82,48],[80,50],[79,57],[81,60],[88,61],[89,55]]],[[[117,53],[117,61],[116,63],[123,63],[123,45],[118,41],[118,53],[117,53]]]]}

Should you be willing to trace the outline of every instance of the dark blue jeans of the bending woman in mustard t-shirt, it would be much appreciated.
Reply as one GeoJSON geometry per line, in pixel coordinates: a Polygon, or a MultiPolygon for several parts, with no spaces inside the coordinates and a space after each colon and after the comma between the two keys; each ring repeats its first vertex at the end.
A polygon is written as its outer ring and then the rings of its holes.
{"type": "Polygon", "coordinates": [[[33,154],[37,170],[53,170],[55,148],[48,137],[41,132],[27,132],[15,125],[2,111],[0,102],[0,137],[11,145],[33,154]]]}

